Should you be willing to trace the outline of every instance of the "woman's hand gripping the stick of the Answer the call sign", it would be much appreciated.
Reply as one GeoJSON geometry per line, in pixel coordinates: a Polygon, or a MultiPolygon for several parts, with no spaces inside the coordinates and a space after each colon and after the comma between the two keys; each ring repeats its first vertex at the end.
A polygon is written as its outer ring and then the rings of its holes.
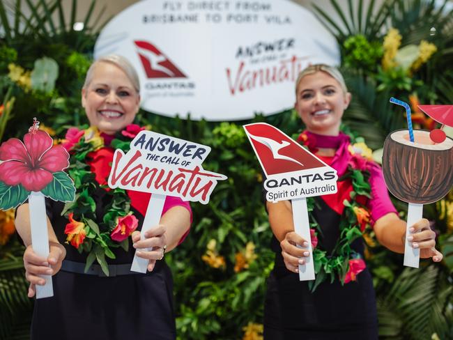
{"type": "Polygon", "coordinates": [[[145,232],[144,240],[140,240],[139,231],[134,231],[132,233],[132,242],[134,242],[133,246],[137,249],[135,254],[141,258],[149,260],[148,270],[150,272],[154,269],[155,261],[162,260],[162,258],[164,258],[164,249],[167,246],[165,231],[165,226],[163,224],[159,224],[159,226],[145,232]]]}

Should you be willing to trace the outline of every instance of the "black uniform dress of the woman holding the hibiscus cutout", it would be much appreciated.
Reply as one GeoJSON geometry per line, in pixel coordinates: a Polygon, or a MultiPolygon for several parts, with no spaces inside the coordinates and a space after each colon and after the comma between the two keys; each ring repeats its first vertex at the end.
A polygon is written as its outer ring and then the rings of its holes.
{"type": "MultiPolygon", "coordinates": [[[[102,217],[105,191],[99,190],[93,199],[97,203],[96,215],[102,217]]],[[[47,200],[46,205],[59,242],[66,247],[66,260],[85,263],[86,253],[79,254],[65,243],[68,220],[61,216],[63,203],[47,200]]],[[[139,219],[140,229],[144,217],[133,208],[132,211],[139,219]]],[[[132,263],[135,248],[129,242],[129,252],[114,249],[116,259],[107,258],[109,265],[132,263]]],[[[153,272],[116,277],[60,270],[53,277],[53,285],[53,297],[35,302],[33,340],[176,339],[173,281],[164,260],[156,261],[153,272]]]]}

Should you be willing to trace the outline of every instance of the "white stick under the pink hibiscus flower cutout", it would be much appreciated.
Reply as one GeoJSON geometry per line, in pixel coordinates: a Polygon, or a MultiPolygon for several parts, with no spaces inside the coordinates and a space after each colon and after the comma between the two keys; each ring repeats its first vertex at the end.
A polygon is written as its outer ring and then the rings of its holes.
{"type": "MultiPolygon", "coordinates": [[[[31,192],[29,195],[31,246],[33,252],[41,257],[49,256],[49,235],[47,234],[47,217],[45,213],[45,199],[40,192],[31,192]]],[[[44,286],[36,285],[36,298],[54,296],[51,275],[40,275],[45,279],[44,286]]]]}

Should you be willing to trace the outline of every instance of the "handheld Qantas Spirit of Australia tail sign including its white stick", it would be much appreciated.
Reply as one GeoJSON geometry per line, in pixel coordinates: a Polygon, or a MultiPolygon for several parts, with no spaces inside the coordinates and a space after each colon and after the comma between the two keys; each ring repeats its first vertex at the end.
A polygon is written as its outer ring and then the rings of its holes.
{"type": "Polygon", "coordinates": [[[337,192],[337,171],[266,123],[244,125],[250,144],[266,174],[264,188],[271,202],[291,199],[294,231],[309,245],[305,265],[299,265],[300,281],[313,280],[314,263],[306,197],[337,192]]]}

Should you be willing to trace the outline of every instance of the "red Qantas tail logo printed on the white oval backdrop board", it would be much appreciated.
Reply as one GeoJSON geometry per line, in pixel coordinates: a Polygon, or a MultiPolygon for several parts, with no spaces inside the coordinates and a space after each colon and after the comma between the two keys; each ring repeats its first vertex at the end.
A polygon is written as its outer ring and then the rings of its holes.
{"type": "Polygon", "coordinates": [[[137,53],[148,78],[187,78],[158,47],[146,41],[135,40],[137,53]]]}

